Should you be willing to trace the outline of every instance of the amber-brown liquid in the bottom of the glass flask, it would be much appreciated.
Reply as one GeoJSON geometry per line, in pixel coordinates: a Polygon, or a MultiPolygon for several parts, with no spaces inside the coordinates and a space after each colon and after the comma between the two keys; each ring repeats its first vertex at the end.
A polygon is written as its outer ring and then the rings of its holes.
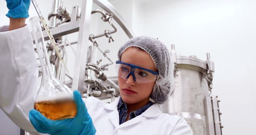
{"type": "Polygon", "coordinates": [[[76,116],[76,103],[73,100],[42,101],[35,103],[35,109],[52,120],[76,116]]]}

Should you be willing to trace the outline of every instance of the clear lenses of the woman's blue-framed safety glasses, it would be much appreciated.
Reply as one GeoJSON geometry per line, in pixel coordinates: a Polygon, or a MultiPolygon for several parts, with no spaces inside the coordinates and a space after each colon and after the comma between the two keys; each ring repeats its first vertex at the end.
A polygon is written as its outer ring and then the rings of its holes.
{"type": "MultiPolygon", "coordinates": [[[[132,68],[128,65],[116,64],[116,73],[123,79],[128,79],[127,76],[129,75],[131,69],[132,68]]],[[[138,68],[133,68],[132,71],[134,73],[137,83],[149,83],[149,82],[156,80],[156,75],[153,75],[152,73],[150,73],[148,71],[138,69],[138,68]]],[[[131,75],[133,76],[133,74],[131,74],[131,75]]]]}

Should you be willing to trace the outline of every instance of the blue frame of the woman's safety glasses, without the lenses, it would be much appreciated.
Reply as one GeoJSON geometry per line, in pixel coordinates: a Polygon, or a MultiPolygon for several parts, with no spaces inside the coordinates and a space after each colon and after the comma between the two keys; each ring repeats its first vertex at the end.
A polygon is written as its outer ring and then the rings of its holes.
{"type": "Polygon", "coordinates": [[[130,73],[126,76],[126,79],[127,79],[130,75],[132,75],[133,80],[136,81],[136,77],[135,77],[135,75],[134,75],[134,70],[132,70],[132,69],[134,69],[134,68],[138,68],[138,69],[142,69],[142,70],[148,71],[148,72],[152,73],[153,75],[159,75],[158,72],[155,72],[155,71],[153,71],[153,70],[146,69],[146,68],[143,68],[143,67],[139,67],[139,66],[134,65],[134,64],[128,64],[128,63],[125,63],[125,62],[121,62],[120,60],[117,60],[117,61],[116,61],[116,64],[124,64],[124,65],[128,65],[128,66],[131,67],[131,71],[130,71],[130,73]]]}

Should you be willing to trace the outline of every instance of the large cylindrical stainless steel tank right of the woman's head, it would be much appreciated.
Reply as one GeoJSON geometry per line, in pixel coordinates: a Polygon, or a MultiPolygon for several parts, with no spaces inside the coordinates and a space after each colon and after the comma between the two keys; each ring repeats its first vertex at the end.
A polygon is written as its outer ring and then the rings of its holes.
{"type": "Polygon", "coordinates": [[[206,61],[196,56],[176,56],[172,45],[171,58],[175,65],[175,87],[160,109],[164,113],[183,117],[193,135],[222,135],[219,100],[211,95],[214,63],[210,54],[207,53],[206,61]]]}

